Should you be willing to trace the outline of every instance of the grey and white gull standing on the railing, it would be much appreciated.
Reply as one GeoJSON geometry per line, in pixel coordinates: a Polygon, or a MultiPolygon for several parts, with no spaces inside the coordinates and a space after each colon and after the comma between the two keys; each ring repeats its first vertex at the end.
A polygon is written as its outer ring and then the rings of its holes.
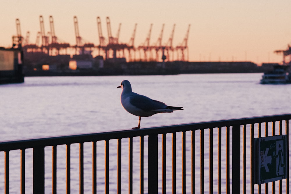
{"type": "Polygon", "coordinates": [[[123,80],[117,88],[121,88],[120,102],[123,108],[139,117],[139,126],[132,129],[141,128],[141,117],[150,117],[157,113],[171,113],[176,110],[183,110],[183,107],[167,106],[163,102],[152,100],[149,97],[132,92],[131,84],[128,80],[123,80]]]}

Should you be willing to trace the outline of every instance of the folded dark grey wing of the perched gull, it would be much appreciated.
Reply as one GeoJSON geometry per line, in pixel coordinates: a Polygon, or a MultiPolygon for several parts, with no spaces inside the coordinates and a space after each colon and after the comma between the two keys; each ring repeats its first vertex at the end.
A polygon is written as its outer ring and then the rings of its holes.
{"type": "Polygon", "coordinates": [[[163,102],[159,102],[157,100],[152,100],[149,97],[143,95],[132,95],[130,96],[129,102],[143,111],[155,111],[157,109],[165,108],[167,105],[163,102]]]}

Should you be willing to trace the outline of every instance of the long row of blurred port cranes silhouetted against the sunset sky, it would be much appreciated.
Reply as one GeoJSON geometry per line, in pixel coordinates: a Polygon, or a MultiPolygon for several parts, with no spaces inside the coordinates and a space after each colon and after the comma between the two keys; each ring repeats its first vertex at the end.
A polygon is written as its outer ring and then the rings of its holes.
{"type": "Polygon", "coordinates": [[[40,21],[40,31],[37,33],[36,42],[30,43],[30,32],[27,31],[26,38],[21,35],[20,21],[16,19],[16,30],[17,35],[13,35],[13,48],[22,48],[24,53],[29,53],[31,56],[33,53],[41,54],[42,56],[57,56],[57,55],[91,55],[94,51],[95,55],[102,56],[104,60],[118,62],[118,61],[188,61],[189,60],[189,50],[188,50],[188,37],[190,31],[190,24],[188,26],[186,35],[182,42],[178,46],[173,46],[173,38],[175,32],[175,26],[171,31],[170,37],[166,43],[162,43],[164,26],[162,24],[162,29],[159,33],[159,37],[156,42],[151,44],[151,33],[153,24],[150,24],[150,29],[148,31],[145,41],[138,47],[134,46],[134,40],[136,36],[137,24],[134,24],[134,29],[132,36],[128,43],[123,43],[119,40],[119,35],[121,32],[121,23],[118,25],[118,31],[116,36],[113,36],[111,31],[111,22],[109,17],[106,17],[107,25],[107,38],[103,36],[101,19],[97,17],[97,29],[99,36],[99,45],[94,45],[94,43],[85,40],[81,37],[79,33],[78,19],[77,16],[73,17],[74,30],[76,44],[70,45],[67,42],[62,41],[56,36],[54,29],[54,19],[52,15],[49,16],[50,31],[46,33],[44,27],[44,19],[42,15],[39,16],[40,21]],[[96,51],[96,52],[95,52],[96,51]],[[138,54],[138,55],[137,55],[138,54]],[[121,60],[122,59],[122,60],[121,60]]]}

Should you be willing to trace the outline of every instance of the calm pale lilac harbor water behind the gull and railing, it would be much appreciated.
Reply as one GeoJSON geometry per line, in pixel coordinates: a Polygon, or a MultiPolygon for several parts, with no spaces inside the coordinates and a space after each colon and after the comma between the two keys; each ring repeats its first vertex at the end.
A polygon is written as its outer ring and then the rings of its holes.
{"type": "MultiPolygon", "coordinates": [[[[0,140],[71,135],[136,127],[138,117],[127,113],[122,108],[120,104],[121,89],[116,89],[124,79],[131,82],[132,90],[136,93],[165,102],[169,106],[184,107],[183,111],[142,118],[141,128],[290,113],[291,84],[261,85],[259,83],[261,75],[260,73],[255,73],[182,74],[168,76],[26,77],[25,82],[22,84],[0,86],[0,140]]],[[[177,136],[177,140],[178,138],[180,138],[179,135],[177,136]]],[[[125,144],[126,141],[124,141],[125,144]]],[[[134,149],[136,152],[139,152],[139,140],[134,139],[134,143],[136,143],[136,148],[134,149]]],[[[104,143],[102,145],[100,144],[100,146],[104,146],[104,143]]],[[[110,146],[112,146],[113,150],[110,157],[115,161],[116,143],[112,142],[110,146]]],[[[90,143],[85,143],[84,148],[85,150],[88,148],[85,152],[91,154],[90,143]]],[[[47,152],[51,152],[51,148],[47,148],[46,150],[47,152]]],[[[65,146],[63,148],[60,146],[60,151],[58,147],[58,173],[60,175],[65,173],[65,151],[62,150],[65,150],[65,146]]],[[[100,149],[100,152],[103,150],[103,148],[100,149]]],[[[167,148],[167,152],[171,153],[171,148],[167,148]]],[[[28,161],[26,163],[26,177],[29,180],[31,178],[29,170],[32,169],[29,163],[29,157],[32,155],[32,150],[28,149],[26,153],[28,154],[26,157],[28,161]]],[[[3,153],[0,154],[0,160],[3,161],[3,153]]],[[[72,145],[71,154],[74,155],[71,159],[72,193],[76,193],[79,186],[74,188],[73,185],[78,185],[79,183],[79,175],[77,175],[79,172],[77,163],[79,157],[78,145],[72,145]],[[76,147],[76,153],[74,153],[74,146],[76,147]]],[[[198,148],[196,156],[200,157],[199,154],[198,148]]],[[[51,158],[51,153],[46,154],[46,159],[49,157],[51,158]]],[[[128,157],[126,151],[123,157],[124,163],[126,164],[128,157]]],[[[169,158],[168,160],[170,161],[171,159],[169,158]]],[[[17,182],[19,181],[19,170],[16,170],[19,165],[19,153],[11,151],[10,161],[15,165],[15,170],[13,167],[10,169],[10,179],[16,182],[16,185],[11,187],[10,191],[19,193],[20,185],[17,182]]],[[[98,161],[103,164],[104,157],[98,158],[98,161]]],[[[90,164],[91,156],[84,159],[84,162],[85,170],[89,169],[88,173],[86,174],[85,172],[84,175],[84,177],[88,177],[88,181],[85,181],[87,187],[84,186],[84,188],[86,188],[86,193],[90,193],[90,189],[92,189],[90,182],[90,168],[92,168],[90,164]]],[[[200,164],[196,165],[199,168],[198,165],[200,164]]],[[[113,167],[114,164],[112,165],[113,167]]],[[[169,169],[171,169],[170,167],[169,169]]],[[[102,172],[104,174],[101,168],[97,170],[98,172],[100,170],[100,173],[102,172]]],[[[124,168],[126,173],[128,167],[125,166],[124,168]]],[[[138,169],[139,166],[134,166],[134,168],[138,169]]],[[[51,159],[48,159],[46,169],[48,169],[46,170],[46,193],[51,193],[51,159]]],[[[171,172],[167,173],[171,176],[171,172]]],[[[0,164],[0,193],[3,193],[3,174],[2,163],[0,164]]],[[[98,186],[98,191],[100,192],[104,191],[104,185],[102,186],[102,183],[104,184],[103,177],[101,176],[97,180],[100,181],[100,186],[98,186]]],[[[110,182],[115,184],[116,173],[112,173],[110,177],[110,182]]],[[[139,180],[139,175],[135,179],[136,181],[137,179],[139,180]]],[[[137,183],[134,189],[139,191],[139,181],[137,183]]],[[[171,179],[167,179],[167,183],[170,185],[167,190],[171,192],[171,179]]],[[[188,191],[190,191],[189,187],[191,189],[191,182],[187,182],[188,191]]],[[[199,187],[200,183],[198,182],[198,191],[199,187]]],[[[65,179],[61,176],[58,178],[57,188],[58,193],[65,192],[65,179]]],[[[30,193],[31,185],[29,183],[26,184],[26,189],[27,193],[30,193]]],[[[123,186],[124,192],[127,192],[127,189],[127,185],[123,186]]],[[[177,191],[179,189],[177,188],[177,191]]],[[[205,189],[207,191],[208,188],[205,189]]],[[[116,193],[116,186],[110,192],[116,193]]]]}

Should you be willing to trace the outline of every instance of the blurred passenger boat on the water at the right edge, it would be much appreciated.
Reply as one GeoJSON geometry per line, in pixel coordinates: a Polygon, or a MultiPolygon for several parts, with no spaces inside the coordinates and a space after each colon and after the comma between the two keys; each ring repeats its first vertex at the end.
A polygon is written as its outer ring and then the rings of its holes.
{"type": "Polygon", "coordinates": [[[274,65],[274,70],[265,72],[261,84],[286,84],[291,83],[291,74],[287,71],[289,65],[274,65]]]}

